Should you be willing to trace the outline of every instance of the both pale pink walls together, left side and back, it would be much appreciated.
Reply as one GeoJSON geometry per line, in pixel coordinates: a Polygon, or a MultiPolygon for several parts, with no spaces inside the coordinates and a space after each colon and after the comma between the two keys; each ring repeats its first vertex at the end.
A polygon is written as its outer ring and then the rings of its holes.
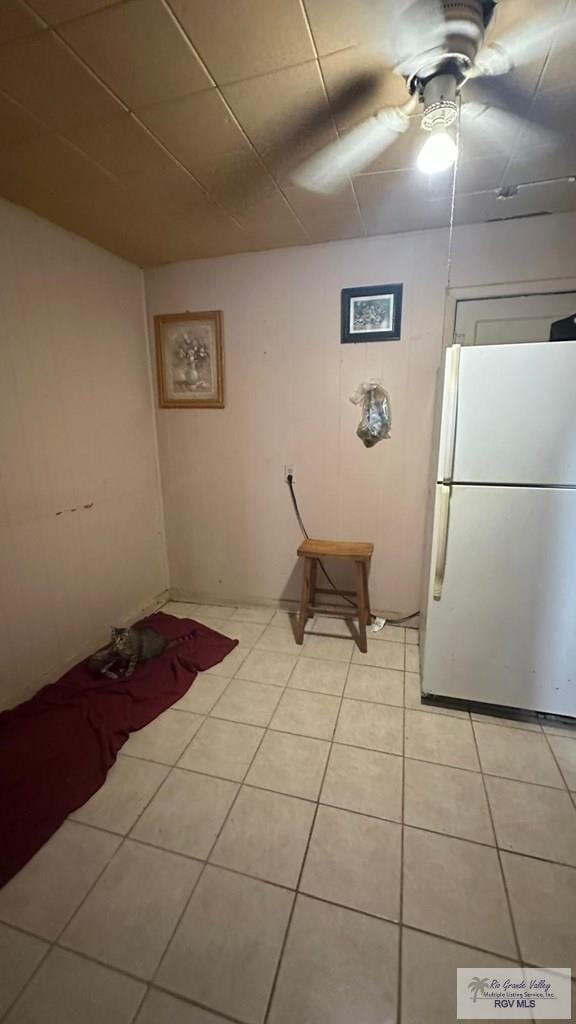
{"type": "MultiPolygon", "coordinates": [[[[453,285],[576,273],[576,215],[460,228],[453,285]]],[[[417,607],[447,233],[425,231],[150,271],[151,314],[223,310],[227,408],[155,422],[140,271],[0,201],[0,708],[101,643],[168,586],[295,597],[299,532],[372,540],[375,607],[417,607]],[[401,343],[339,344],[339,291],[402,281],[401,343]],[[355,435],[381,377],[393,436],[355,435]]]]}

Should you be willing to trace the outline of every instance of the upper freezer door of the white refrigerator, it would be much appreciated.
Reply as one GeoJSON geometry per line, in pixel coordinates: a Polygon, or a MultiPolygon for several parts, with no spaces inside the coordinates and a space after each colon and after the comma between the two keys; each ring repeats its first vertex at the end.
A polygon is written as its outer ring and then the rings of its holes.
{"type": "Polygon", "coordinates": [[[576,342],[461,349],[452,479],[576,484],[576,342]]]}

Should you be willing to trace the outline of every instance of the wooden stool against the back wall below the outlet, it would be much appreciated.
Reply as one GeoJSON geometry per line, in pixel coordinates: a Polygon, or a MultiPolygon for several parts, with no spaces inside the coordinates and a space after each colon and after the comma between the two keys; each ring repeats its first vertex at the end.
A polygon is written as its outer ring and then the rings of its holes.
{"type": "Polygon", "coordinates": [[[356,618],[359,625],[359,647],[368,650],[366,627],[370,621],[370,597],[368,595],[368,572],[370,559],[374,551],[373,544],[356,543],[354,541],[303,541],[298,548],[298,558],[304,559],[304,574],[300,597],[300,611],[296,626],[296,643],[302,643],[304,629],[308,618],[315,611],[336,618],[356,618]],[[356,563],[356,591],[340,590],[340,594],[354,597],[354,608],[342,607],[339,604],[317,604],[317,594],[333,594],[333,590],[317,587],[318,562],[320,558],[347,558],[356,563]]]}

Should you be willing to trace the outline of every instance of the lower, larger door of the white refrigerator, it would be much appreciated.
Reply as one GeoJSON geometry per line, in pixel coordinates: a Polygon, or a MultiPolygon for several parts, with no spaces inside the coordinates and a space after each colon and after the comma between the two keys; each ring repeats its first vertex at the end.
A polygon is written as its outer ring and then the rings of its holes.
{"type": "Polygon", "coordinates": [[[422,691],[576,717],[576,490],[452,487],[422,691]]]}

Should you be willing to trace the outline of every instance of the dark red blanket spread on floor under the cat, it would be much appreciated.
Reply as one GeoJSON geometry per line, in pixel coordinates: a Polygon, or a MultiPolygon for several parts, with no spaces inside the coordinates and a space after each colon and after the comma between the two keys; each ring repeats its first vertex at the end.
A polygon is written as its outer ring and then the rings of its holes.
{"type": "Polygon", "coordinates": [[[129,733],[183,696],[199,671],[238,643],[163,612],[142,623],[179,642],[137,666],[130,679],[94,679],[81,662],[0,715],[0,886],[99,790],[129,733]]]}

